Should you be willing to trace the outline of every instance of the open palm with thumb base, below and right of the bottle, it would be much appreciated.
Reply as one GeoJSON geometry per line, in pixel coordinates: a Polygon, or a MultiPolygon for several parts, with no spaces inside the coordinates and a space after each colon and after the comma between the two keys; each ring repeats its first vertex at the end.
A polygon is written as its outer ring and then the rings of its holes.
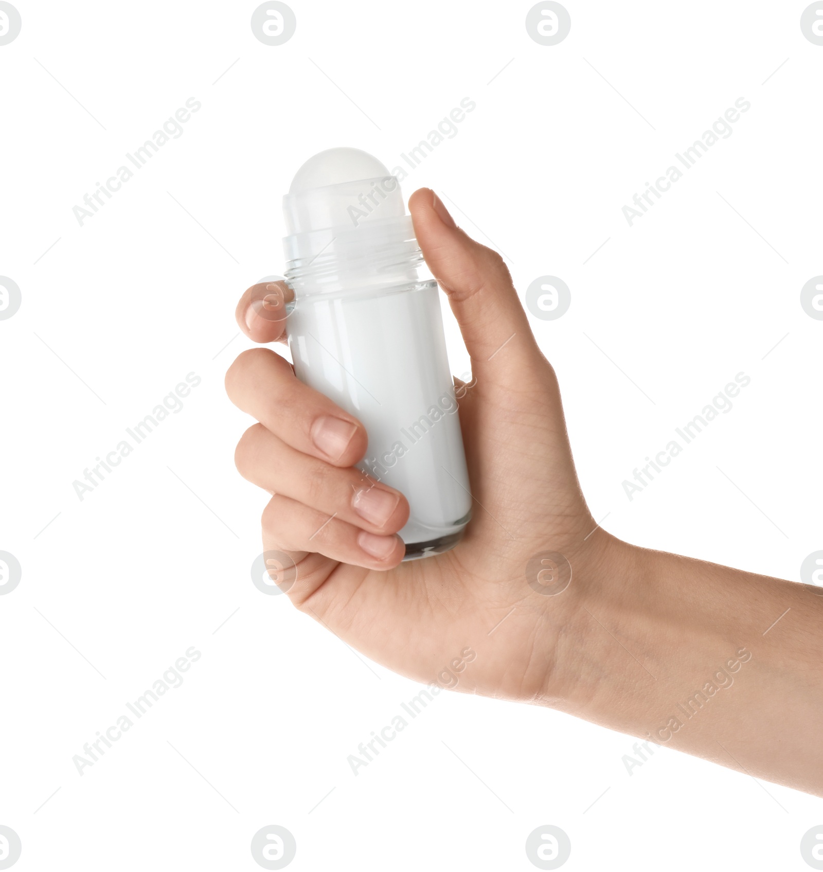
{"type": "Polygon", "coordinates": [[[434,681],[471,648],[478,657],[460,689],[512,698],[541,692],[554,636],[541,626],[547,598],[527,584],[527,560],[541,550],[576,553],[594,527],[554,373],[541,361],[520,378],[517,391],[479,383],[460,401],[475,499],[457,548],[388,572],[324,560],[317,572],[325,581],[297,597],[345,642],[416,680],[434,681]],[[539,648],[524,646],[524,634],[541,634],[539,648]]]}

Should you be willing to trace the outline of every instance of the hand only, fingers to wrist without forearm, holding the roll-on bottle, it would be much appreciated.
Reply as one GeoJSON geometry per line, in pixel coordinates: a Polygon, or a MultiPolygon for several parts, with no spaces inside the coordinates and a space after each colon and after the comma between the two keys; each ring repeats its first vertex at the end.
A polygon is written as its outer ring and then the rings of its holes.
{"type": "MultiPolygon", "coordinates": [[[[408,504],[353,467],[366,450],[363,425],[298,381],[274,351],[244,351],[228,371],[228,396],[260,421],[237,446],[237,468],[273,494],[263,548],[296,563],[291,601],[345,642],[425,683],[452,684],[438,679],[451,670],[463,691],[566,698],[575,683],[566,656],[575,648],[575,589],[617,543],[595,530],[586,508],[554,371],[500,255],[457,228],[431,190],[415,192],[409,209],[472,358],[471,385],[458,391],[474,497],[465,538],[401,563],[396,534],[408,504]],[[558,596],[527,582],[527,562],[543,551],[574,568],[575,582],[558,596]],[[476,657],[461,655],[466,648],[476,657]]],[[[236,312],[241,330],[255,342],[282,339],[290,294],[284,283],[249,288],[236,312]]]]}

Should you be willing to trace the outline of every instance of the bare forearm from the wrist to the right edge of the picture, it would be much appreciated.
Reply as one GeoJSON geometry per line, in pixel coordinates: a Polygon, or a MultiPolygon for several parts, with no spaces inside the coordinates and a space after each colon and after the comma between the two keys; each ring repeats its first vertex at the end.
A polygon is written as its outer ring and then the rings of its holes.
{"type": "Polygon", "coordinates": [[[559,707],[823,795],[823,590],[605,534],[599,548],[559,707]]]}

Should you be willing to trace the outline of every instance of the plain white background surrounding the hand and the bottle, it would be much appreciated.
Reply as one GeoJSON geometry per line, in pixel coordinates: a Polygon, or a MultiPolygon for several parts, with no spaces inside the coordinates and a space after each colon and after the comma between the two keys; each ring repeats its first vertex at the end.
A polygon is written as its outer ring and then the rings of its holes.
{"type": "Polygon", "coordinates": [[[528,37],[531,3],[294,0],[276,47],[251,31],[257,3],[15,4],[0,549],[23,580],[0,597],[0,823],[17,869],[251,872],[272,823],[295,870],[534,869],[526,837],[547,823],[569,870],[808,869],[820,800],[666,748],[629,775],[634,739],[527,705],[443,693],[355,777],[347,756],[418,685],[253,586],[267,495],[235,471],[250,422],[223,391],[248,345],[236,299],[283,269],[297,167],[341,145],[394,167],[468,97],[404,192],[438,190],[521,295],[568,283],[568,313],[533,327],[595,518],[799,580],[823,548],[823,322],[799,304],[823,273],[807,4],[568,0],[553,47],[528,37]],[[183,135],[81,227],[72,207],[190,97],[183,135]],[[622,206],[740,97],[731,137],[629,227],[622,206]],[[191,371],[185,408],[80,501],[72,481],[191,371]],[[622,480],[739,371],[732,411],[629,501],[622,480]],[[78,775],[72,756],[192,645],[185,683],[78,775]]]}

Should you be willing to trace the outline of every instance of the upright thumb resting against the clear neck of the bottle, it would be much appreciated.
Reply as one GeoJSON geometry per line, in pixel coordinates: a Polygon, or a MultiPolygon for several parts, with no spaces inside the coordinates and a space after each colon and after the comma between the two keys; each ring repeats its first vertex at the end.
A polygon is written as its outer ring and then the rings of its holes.
{"type": "Polygon", "coordinates": [[[521,371],[541,358],[503,258],[466,235],[430,188],[411,194],[409,211],[425,262],[460,325],[473,375],[521,371]]]}

